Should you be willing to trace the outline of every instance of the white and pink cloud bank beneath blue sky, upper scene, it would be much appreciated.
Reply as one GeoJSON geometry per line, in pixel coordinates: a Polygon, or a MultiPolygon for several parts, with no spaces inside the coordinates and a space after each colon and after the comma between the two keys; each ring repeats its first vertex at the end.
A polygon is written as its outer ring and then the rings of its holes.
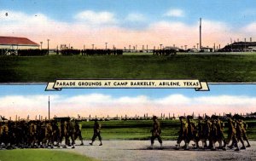
{"type": "MultiPolygon", "coordinates": [[[[0,10],[0,14],[4,15],[0,19],[0,35],[28,37],[36,43],[43,42],[43,48],[46,48],[48,38],[51,49],[60,44],[70,44],[77,49],[83,49],[85,44],[85,48],[90,48],[91,43],[96,44],[97,49],[104,49],[105,42],[111,46],[114,44],[119,49],[136,44],[138,49],[142,49],[142,46],[147,44],[148,49],[153,49],[154,46],[157,48],[160,43],[164,46],[176,44],[177,47],[188,45],[188,48],[193,48],[196,43],[199,43],[198,20],[195,20],[193,24],[173,20],[121,23],[119,17],[111,12],[90,10],[76,14],[73,22],[52,20],[47,15],[40,13],[25,14],[12,10],[0,10]],[[9,13],[9,16],[4,15],[6,12],[9,13]],[[125,27],[125,23],[132,24],[132,26],[143,24],[143,27],[138,30],[129,25],[131,28],[128,28],[125,27]]],[[[130,14],[131,20],[143,20],[142,17],[140,14],[130,14]]],[[[216,43],[224,47],[230,43],[230,37],[233,39],[256,37],[255,29],[255,23],[241,28],[233,28],[221,21],[203,19],[202,44],[212,47],[213,43],[216,43]]]]}

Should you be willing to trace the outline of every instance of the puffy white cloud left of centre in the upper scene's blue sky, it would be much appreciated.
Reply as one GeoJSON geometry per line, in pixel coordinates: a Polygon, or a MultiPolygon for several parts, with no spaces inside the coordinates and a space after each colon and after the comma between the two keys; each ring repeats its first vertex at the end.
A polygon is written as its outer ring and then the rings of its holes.
{"type": "Polygon", "coordinates": [[[113,25],[118,22],[115,15],[108,11],[95,12],[92,10],[85,10],[76,14],[74,18],[88,23],[89,25],[113,25]]]}

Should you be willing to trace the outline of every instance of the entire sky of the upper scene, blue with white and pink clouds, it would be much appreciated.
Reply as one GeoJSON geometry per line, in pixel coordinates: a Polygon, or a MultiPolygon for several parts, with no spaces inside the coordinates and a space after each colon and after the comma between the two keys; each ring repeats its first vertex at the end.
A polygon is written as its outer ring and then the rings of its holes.
{"type": "Polygon", "coordinates": [[[255,0],[0,0],[0,35],[49,38],[50,48],[94,43],[100,49],[105,42],[120,49],[134,43],[192,48],[200,18],[203,46],[256,39],[255,0]]]}

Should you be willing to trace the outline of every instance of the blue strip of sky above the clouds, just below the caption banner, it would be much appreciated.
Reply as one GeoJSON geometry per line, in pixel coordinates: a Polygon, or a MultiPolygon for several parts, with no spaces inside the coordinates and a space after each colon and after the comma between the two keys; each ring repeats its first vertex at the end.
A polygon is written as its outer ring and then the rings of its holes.
{"type": "Polygon", "coordinates": [[[167,95],[218,96],[218,95],[256,95],[256,84],[209,84],[210,91],[200,92],[195,89],[62,89],[61,91],[44,91],[45,85],[0,85],[0,97],[6,95],[90,95],[92,93],[112,95],[113,97],[146,95],[161,98],[167,95]]]}

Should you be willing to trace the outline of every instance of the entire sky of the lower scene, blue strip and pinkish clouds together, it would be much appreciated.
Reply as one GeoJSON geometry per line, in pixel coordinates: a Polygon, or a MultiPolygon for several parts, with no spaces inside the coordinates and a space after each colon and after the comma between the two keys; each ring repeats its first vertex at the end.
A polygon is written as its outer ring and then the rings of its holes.
{"type": "Polygon", "coordinates": [[[149,116],[160,113],[255,112],[256,85],[210,85],[211,91],[195,89],[62,89],[44,91],[42,85],[0,85],[0,115],[26,118],[48,116],[48,95],[51,117],[149,116]],[[8,110],[6,110],[8,109],[8,110]]]}

